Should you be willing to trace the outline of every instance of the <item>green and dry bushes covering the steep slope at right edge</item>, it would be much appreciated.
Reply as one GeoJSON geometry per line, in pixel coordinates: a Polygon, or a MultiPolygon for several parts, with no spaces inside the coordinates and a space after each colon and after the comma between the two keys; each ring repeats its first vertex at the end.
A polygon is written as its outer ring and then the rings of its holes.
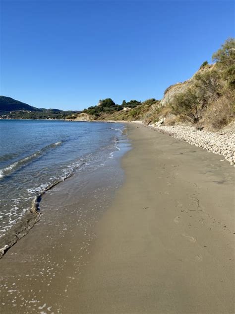
{"type": "Polygon", "coordinates": [[[181,119],[217,130],[235,116],[235,40],[228,39],[212,58],[214,66],[200,69],[170,107],[181,119]]]}

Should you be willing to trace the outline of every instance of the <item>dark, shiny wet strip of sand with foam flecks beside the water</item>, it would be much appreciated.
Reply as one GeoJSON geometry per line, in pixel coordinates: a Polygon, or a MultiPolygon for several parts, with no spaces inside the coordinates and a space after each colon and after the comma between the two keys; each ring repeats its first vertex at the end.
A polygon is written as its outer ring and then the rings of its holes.
{"type": "Polygon", "coordinates": [[[1,313],[50,313],[51,307],[66,313],[60,299],[85,267],[95,224],[123,181],[120,158],[129,142],[123,137],[118,146],[102,165],[97,161],[44,193],[40,221],[0,259],[1,313]]]}

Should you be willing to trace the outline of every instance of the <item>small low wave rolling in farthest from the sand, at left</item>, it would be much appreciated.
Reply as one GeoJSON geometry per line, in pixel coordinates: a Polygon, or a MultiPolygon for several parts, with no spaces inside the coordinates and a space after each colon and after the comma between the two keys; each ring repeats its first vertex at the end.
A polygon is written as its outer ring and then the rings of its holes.
{"type": "Polygon", "coordinates": [[[50,149],[56,148],[57,146],[59,146],[61,144],[62,144],[62,141],[49,144],[49,145],[43,147],[41,150],[33,153],[32,155],[29,155],[27,157],[19,159],[19,160],[15,161],[15,162],[11,163],[10,165],[0,169],[0,179],[2,179],[5,176],[11,174],[12,172],[18,170],[19,168],[21,168],[22,166],[24,166],[27,163],[31,162],[32,160],[42,156],[43,154],[45,154],[50,149]]]}

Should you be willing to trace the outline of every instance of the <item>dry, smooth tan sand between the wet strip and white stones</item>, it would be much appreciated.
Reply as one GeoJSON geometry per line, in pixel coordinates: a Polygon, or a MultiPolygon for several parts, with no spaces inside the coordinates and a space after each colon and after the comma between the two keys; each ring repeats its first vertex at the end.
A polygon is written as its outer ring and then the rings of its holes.
{"type": "Polygon", "coordinates": [[[230,165],[149,128],[128,135],[125,182],[97,225],[68,313],[232,314],[230,165]]]}

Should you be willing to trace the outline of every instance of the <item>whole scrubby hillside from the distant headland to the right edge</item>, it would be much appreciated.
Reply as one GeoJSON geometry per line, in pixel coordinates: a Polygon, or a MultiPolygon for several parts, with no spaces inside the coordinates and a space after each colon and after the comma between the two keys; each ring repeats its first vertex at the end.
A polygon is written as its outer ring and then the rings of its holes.
{"type": "Polygon", "coordinates": [[[218,131],[235,119],[235,40],[228,39],[203,62],[192,78],[169,86],[161,100],[123,101],[116,105],[104,99],[98,106],[70,116],[71,120],[140,120],[149,125],[194,125],[218,131]],[[100,105],[101,104],[101,105],[100,105]],[[130,105],[129,105],[130,104],[130,105]],[[85,114],[85,115],[84,115],[85,114]]]}

